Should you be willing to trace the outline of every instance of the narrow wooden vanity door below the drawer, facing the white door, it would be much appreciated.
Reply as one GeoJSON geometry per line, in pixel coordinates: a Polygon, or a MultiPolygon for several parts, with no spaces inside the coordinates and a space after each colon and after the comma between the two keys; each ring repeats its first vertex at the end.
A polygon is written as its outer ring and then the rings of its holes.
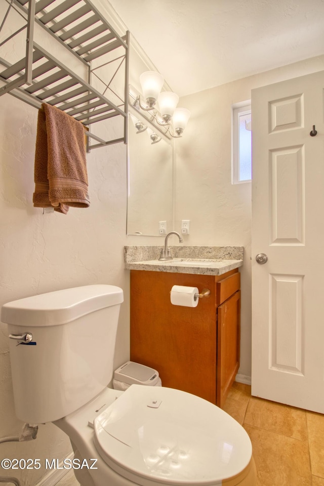
{"type": "Polygon", "coordinates": [[[217,308],[217,405],[223,407],[239,367],[240,291],[217,308]]]}

